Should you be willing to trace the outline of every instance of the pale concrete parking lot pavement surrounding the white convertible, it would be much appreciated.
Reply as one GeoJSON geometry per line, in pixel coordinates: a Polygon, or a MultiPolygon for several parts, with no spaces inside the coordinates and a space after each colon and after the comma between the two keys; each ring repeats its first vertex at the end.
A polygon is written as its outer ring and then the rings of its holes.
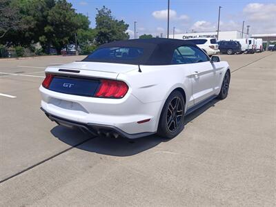
{"type": "Polygon", "coordinates": [[[0,206],[276,206],[276,53],[221,55],[228,98],[166,141],[89,137],[40,107],[46,66],[0,60],[0,206]]]}

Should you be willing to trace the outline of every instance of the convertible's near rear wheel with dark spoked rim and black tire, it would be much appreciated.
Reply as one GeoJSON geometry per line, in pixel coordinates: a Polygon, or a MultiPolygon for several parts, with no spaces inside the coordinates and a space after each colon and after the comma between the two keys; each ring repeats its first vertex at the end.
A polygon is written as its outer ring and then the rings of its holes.
{"type": "Polygon", "coordinates": [[[184,110],[183,95],[178,90],[172,91],[162,109],[157,135],[166,139],[176,137],[184,129],[184,110]]]}

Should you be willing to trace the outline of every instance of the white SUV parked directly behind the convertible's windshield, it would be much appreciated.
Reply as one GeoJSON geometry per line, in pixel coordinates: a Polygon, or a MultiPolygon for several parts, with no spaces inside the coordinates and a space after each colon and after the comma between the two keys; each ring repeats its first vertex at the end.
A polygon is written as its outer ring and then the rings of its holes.
{"type": "Polygon", "coordinates": [[[199,48],[204,50],[207,55],[212,56],[219,54],[219,45],[215,38],[196,38],[196,39],[184,39],[185,41],[195,43],[199,48]]]}

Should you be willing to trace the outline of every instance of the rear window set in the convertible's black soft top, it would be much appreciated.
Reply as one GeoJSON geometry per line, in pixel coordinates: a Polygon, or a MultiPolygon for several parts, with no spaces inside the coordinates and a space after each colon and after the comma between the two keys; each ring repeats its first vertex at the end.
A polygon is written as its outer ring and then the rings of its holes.
{"type": "Polygon", "coordinates": [[[128,47],[118,47],[118,48],[100,48],[92,52],[91,55],[86,57],[86,61],[89,60],[128,60],[137,59],[143,55],[143,48],[128,48],[128,47]]]}

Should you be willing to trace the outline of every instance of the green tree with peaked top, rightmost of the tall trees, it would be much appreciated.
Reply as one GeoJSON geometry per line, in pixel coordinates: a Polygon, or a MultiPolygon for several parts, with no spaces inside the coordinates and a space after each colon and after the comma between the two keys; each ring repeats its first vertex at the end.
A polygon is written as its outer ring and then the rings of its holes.
{"type": "Polygon", "coordinates": [[[116,41],[121,39],[129,39],[128,24],[123,20],[119,21],[112,17],[111,11],[103,6],[103,8],[97,8],[96,14],[96,41],[98,44],[108,43],[110,41],[116,41]]]}

